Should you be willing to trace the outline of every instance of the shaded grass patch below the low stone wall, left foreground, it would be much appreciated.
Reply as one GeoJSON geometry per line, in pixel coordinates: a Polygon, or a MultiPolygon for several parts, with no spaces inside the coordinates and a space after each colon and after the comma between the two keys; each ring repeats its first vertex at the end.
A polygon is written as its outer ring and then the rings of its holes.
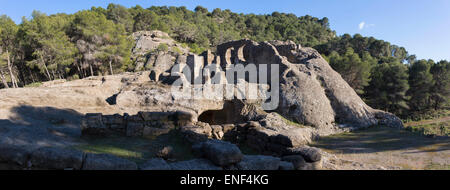
{"type": "Polygon", "coordinates": [[[191,160],[191,144],[184,141],[180,134],[171,132],[152,138],[139,137],[83,137],[84,143],[74,146],[75,149],[95,154],[112,154],[142,164],[152,158],[165,146],[173,148],[177,161],[191,160]]]}

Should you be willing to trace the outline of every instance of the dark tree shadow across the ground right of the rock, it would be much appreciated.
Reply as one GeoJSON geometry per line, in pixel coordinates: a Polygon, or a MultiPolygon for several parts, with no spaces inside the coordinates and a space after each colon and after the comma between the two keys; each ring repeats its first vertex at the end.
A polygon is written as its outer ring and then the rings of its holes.
{"type": "Polygon", "coordinates": [[[376,153],[414,149],[416,152],[450,150],[450,138],[430,138],[406,130],[373,127],[351,133],[322,137],[312,144],[342,154],[376,153]]]}

